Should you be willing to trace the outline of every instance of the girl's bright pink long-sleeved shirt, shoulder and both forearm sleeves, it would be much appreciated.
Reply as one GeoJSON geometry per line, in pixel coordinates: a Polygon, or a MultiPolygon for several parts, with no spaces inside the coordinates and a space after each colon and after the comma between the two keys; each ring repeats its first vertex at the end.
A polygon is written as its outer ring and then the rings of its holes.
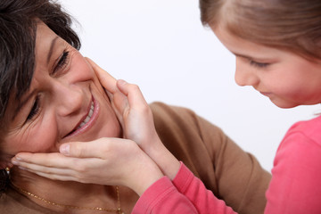
{"type": "MultiPolygon", "coordinates": [[[[321,213],[321,116],[301,121],[284,136],[272,169],[265,214],[321,213]]],[[[171,182],[162,177],[136,203],[138,213],[235,213],[181,164],[171,182]]]]}

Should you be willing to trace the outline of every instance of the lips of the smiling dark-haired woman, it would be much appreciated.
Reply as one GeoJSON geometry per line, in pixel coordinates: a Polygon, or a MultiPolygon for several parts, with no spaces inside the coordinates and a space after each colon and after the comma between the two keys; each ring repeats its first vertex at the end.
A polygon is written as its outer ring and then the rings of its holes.
{"type": "Polygon", "coordinates": [[[71,136],[78,136],[79,134],[86,132],[87,129],[91,128],[95,120],[98,118],[99,109],[100,109],[99,103],[95,100],[93,96],[92,101],[89,104],[86,115],[78,122],[77,126],[74,129],[72,129],[72,131],[67,136],[65,136],[65,138],[66,137],[70,138],[71,136]],[[89,114],[92,103],[94,103],[93,115],[91,116],[89,121],[86,122],[84,126],[82,126],[81,128],[78,128],[79,125],[84,121],[84,119],[86,119],[87,115],[89,114]]]}

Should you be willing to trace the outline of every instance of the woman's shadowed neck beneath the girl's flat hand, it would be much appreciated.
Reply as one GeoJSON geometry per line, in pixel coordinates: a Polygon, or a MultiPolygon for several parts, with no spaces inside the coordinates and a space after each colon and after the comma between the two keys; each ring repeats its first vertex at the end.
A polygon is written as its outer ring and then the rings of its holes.
{"type": "MultiPolygon", "coordinates": [[[[81,208],[103,208],[116,210],[119,197],[115,186],[82,184],[71,181],[51,180],[39,177],[29,171],[13,168],[11,170],[12,185],[23,191],[33,202],[49,210],[66,211],[64,206],[55,206],[53,202],[81,208]],[[39,197],[45,200],[39,200],[39,197]],[[47,201],[47,202],[45,202],[47,201]]],[[[87,213],[88,210],[68,209],[69,213],[87,213]]],[[[95,213],[91,211],[91,213],[95,213]]],[[[98,212],[99,213],[99,212],[98,212]]]]}

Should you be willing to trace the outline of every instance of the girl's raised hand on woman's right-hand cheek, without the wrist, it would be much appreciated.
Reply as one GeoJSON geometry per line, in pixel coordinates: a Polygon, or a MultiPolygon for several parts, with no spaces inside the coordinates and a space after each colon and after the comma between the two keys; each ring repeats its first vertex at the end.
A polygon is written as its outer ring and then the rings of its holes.
{"type": "Polygon", "coordinates": [[[116,112],[124,138],[135,141],[144,151],[154,144],[160,143],[152,119],[152,111],[144,100],[138,86],[128,84],[124,80],[112,78],[90,59],[92,65],[116,112]]]}

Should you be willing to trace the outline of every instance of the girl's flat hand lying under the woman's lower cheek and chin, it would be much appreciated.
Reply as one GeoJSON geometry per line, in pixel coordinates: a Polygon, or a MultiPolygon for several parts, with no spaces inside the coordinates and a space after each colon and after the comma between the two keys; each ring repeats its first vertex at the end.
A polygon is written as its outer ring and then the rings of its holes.
{"type": "Polygon", "coordinates": [[[125,185],[139,195],[163,176],[151,158],[127,139],[67,143],[61,145],[60,152],[21,152],[12,163],[53,180],[125,185]]]}

